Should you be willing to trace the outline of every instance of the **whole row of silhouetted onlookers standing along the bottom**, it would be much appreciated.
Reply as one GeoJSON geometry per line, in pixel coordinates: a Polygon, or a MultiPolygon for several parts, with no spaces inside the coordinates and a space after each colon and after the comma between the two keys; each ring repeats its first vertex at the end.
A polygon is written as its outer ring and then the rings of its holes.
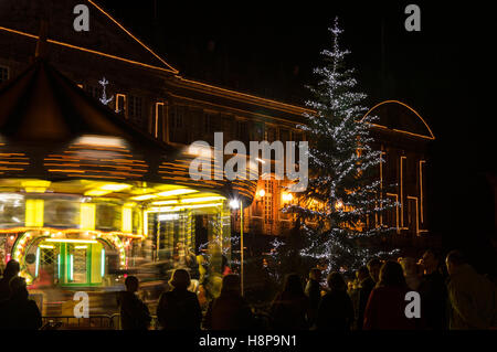
{"type": "MultiPolygon", "coordinates": [[[[0,280],[0,328],[39,329],[41,314],[28,298],[19,264],[9,262],[0,280]]],[[[261,329],[257,314],[241,294],[240,277],[224,273],[219,296],[202,305],[189,290],[188,269],[178,268],[169,280],[170,290],[160,296],[157,320],[163,330],[261,329]],[[205,308],[202,308],[205,306],[205,308]]],[[[414,258],[381,262],[371,259],[353,280],[313,268],[303,285],[289,274],[268,309],[274,330],[485,330],[497,328],[495,282],[479,275],[457,250],[443,257],[426,250],[414,258]],[[406,294],[420,297],[421,313],[406,314],[406,294]]],[[[152,317],[137,295],[139,280],[128,276],[126,290],[118,295],[121,329],[150,329],[152,317]]]]}

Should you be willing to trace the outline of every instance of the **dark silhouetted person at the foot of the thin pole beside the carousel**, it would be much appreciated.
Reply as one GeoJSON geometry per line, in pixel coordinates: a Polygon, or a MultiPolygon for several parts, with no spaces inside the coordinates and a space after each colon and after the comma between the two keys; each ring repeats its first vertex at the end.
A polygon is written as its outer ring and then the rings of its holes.
{"type": "Polygon", "coordinates": [[[240,277],[230,274],[223,277],[221,295],[208,308],[203,326],[207,330],[253,329],[255,320],[248,303],[240,294],[240,277]]]}

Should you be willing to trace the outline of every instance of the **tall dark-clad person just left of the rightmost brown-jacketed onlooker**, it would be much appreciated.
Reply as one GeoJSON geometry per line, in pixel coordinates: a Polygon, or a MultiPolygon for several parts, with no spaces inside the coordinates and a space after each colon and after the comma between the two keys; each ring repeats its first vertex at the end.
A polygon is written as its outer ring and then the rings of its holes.
{"type": "Polygon", "coordinates": [[[447,329],[447,289],[441,264],[441,256],[434,249],[427,249],[421,258],[424,275],[417,291],[421,314],[429,330],[447,329]]]}

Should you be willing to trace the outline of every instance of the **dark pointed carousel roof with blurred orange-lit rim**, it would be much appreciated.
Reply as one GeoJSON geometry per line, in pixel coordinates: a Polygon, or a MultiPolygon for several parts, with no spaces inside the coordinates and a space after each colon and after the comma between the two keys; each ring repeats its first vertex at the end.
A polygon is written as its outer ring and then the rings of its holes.
{"type": "Polygon", "coordinates": [[[255,193],[248,180],[191,180],[195,156],[141,131],[43,58],[0,87],[0,107],[2,179],[146,181],[247,201],[255,193]]]}

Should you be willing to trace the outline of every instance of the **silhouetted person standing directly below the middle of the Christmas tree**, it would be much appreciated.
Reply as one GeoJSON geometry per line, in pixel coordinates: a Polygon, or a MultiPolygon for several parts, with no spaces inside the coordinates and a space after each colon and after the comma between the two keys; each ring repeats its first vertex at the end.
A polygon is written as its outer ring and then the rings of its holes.
{"type": "Polygon", "coordinates": [[[321,298],[317,316],[318,330],[350,330],[353,322],[352,300],[347,285],[338,273],[328,276],[329,292],[321,298]]]}

